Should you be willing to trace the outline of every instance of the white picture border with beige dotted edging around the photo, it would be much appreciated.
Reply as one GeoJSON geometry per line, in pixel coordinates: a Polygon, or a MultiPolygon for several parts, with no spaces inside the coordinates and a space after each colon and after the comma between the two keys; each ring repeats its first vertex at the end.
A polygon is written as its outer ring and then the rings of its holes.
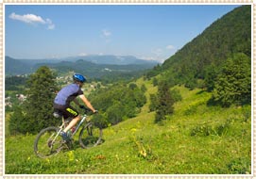
{"type": "MultiPolygon", "coordinates": [[[[0,0],[0,176],[4,178],[254,178],[256,177],[256,104],[254,99],[254,86],[256,74],[255,39],[256,39],[256,0],[0,0]],[[251,173],[250,174],[5,174],[5,5],[251,5],[251,173]]],[[[256,97],[255,97],[256,98],[256,97]]]]}

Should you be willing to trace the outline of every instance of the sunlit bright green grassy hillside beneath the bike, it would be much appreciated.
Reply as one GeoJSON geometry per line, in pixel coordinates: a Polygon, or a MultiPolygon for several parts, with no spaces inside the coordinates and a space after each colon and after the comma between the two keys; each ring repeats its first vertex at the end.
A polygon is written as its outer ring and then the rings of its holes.
{"type": "MultiPolygon", "coordinates": [[[[155,93],[150,81],[146,96],[155,93]]],[[[104,130],[92,149],[61,152],[48,159],[33,154],[35,136],[6,138],[7,174],[234,174],[251,173],[250,106],[207,106],[211,93],[176,86],[182,101],[162,125],[148,113],[149,100],[133,119],[104,130]]]]}

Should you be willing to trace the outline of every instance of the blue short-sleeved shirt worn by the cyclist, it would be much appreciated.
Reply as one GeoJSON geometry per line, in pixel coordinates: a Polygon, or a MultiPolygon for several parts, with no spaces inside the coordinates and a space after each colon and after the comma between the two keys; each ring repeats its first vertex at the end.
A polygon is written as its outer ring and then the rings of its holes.
{"type": "Polygon", "coordinates": [[[58,92],[54,103],[57,105],[65,106],[69,105],[78,95],[83,94],[79,85],[76,83],[68,85],[58,92]]]}

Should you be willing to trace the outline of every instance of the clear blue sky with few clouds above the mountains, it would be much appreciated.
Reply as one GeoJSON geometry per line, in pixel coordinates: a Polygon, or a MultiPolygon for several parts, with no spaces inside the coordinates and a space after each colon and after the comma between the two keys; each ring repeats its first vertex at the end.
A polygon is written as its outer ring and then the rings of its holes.
{"type": "Polygon", "coordinates": [[[5,55],[163,61],[241,5],[6,5],[5,55]]]}

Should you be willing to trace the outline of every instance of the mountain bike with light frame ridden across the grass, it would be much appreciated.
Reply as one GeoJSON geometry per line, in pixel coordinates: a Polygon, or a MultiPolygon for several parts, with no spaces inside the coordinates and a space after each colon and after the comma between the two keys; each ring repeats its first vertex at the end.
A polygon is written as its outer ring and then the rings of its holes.
{"type": "Polygon", "coordinates": [[[60,136],[62,131],[72,119],[64,120],[63,116],[59,112],[55,112],[56,118],[62,118],[62,123],[59,127],[49,126],[44,128],[36,137],[34,141],[34,152],[41,158],[46,158],[51,155],[57,155],[62,149],[71,149],[73,146],[73,137],[79,132],[78,141],[82,148],[87,149],[99,145],[102,143],[102,128],[95,126],[95,123],[89,121],[88,113],[89,109],[84,109],[84,114],[81,117],[77,126],[74,126],[67,133],[70,138],[68,141],[64,141],[60,136]]]}

